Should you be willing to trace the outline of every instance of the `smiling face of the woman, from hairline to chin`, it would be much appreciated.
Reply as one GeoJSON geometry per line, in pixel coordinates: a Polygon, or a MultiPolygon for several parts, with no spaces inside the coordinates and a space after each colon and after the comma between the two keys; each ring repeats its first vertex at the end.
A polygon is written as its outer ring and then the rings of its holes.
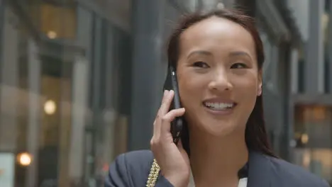
{"type": "Polygon", "coordinates": [[[244,130],[262,85],[250,33],[212,17],[187,28],[179,48],[179,93],[189,128],[214,136],[244,130]]]}

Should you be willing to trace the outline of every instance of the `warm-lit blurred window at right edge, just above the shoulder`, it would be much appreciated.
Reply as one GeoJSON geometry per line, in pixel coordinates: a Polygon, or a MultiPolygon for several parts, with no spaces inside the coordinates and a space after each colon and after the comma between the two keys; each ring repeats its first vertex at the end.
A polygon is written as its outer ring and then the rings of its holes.
{"type": "Polygon", "coordinates": [[[293,162],[332,182],[332,108],[296,106],[293,162]]]}

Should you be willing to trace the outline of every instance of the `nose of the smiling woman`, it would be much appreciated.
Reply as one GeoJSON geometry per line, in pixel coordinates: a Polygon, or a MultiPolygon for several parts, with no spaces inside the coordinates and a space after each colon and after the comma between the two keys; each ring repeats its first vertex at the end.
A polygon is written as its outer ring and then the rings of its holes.
{"type": "Polygon", "coordinates": [[[233,89],[233,85],[229,81],[225,71],[218,71],[214,73],[209,83],[209,89],[214,91],[229,91],[233,89]]]}

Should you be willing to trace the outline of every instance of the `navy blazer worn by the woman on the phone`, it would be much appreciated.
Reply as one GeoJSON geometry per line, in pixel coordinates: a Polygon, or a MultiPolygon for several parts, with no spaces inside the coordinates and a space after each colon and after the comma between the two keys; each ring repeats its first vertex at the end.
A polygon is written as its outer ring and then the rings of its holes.
{"type": "MultiPolygon", "coordinates": [[[[111,164],[105,187],[140,187],[148,180],[153,153],[149,150],[119,155],[111,164]]],[[[258,152],[249,154],[248,187],[328,187],[328,183],[300,166],[258,152]]],[[[172,187],[159,176],[155,187],[172,187]]]]}

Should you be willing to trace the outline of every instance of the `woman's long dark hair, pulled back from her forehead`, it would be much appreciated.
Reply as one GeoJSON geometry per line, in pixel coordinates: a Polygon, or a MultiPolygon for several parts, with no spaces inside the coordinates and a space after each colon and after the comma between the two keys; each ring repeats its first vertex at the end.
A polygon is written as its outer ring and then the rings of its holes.
{"type": "MultiPolygon", "coordinates": [[[[240,26],[243,26],[243,28],[248,30],[248,32],[253,36],[253,40],[255,41],[255,51],[258,61],[258,68],[262,69],[262,64],[265,60],[264,49],[258,30],[255,27],[255,21],[253,20],[253,18],[245,15],[245,13],[240,10],[228,9],[220,9],[207,13],[197,12],[192,13],[188,16],[184,16],[184,19],[182,20],[182,22],[179,23],[178,28],[176,28],[170,36],[170,41],[167,49],[168,64],[172,67],[177,67],[177,61],[179,58],[179,40],[182,32],[190,26],[193,26],[195,23],[199,23],[199,21],[203,21],[206,18],[211,18],[213,16],[216,16],[218,18],[226,18],[230,21],[238,23],[240,26]]],[[[269,145],[269,141],[267,139],[267,132],[265,129],[262,108],[262,96],[257,97],[253,112],[248,118],[248,122],[245,127],[245,143],[250,150],[261,152],[262,154],[266,154],[271,157],[275,157],[275,154],[273,154],[272,149],[269,145]]],[[[187,123],[185,123],[182,130],[182,145],[187,151],[187,153],[190,154],[189,130],[187,123]]]]}

